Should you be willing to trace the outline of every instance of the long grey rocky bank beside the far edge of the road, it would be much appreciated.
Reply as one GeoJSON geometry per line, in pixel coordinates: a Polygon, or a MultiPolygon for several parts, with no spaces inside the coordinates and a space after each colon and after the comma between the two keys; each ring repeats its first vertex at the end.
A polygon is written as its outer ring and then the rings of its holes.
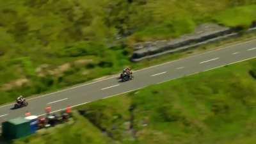
{"type": "MultiPolygon", "coordinates": [[[[254,31],[255,28],[248,30],[254,31]]],[[[132,61],[141,61],[147,58],[154,58],[163,54],[170,54],[177,51],[184,51],[200,45],[209,44],[218,40],[224,40],[237,36],[237,30],[226,28],[217,24],[202,24],[195,29],[194,33],[181,36],[173,40],[161,40],[134,45],[132,61]]]]}

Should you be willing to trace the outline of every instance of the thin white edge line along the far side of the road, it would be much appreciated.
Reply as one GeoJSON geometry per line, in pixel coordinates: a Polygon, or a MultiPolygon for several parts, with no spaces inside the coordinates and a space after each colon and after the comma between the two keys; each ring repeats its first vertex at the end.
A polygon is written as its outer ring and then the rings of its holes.
{"type": "MultiPolygon", "coordinates": [[[[168,62],[166,62],[166,63],[161,63],[161,64],[159,64],[159,65],[153,65],[153,66],[151,66],[151,67],[147,67],[147,68],[141,68],[140,70],[135,70],[134,72],[140,72],[140,71],[142,71],[142,70],[147,70],[147,69],[150,69],[150,68],[154,68],[154,67],[159,67],[159,66],[161,66],[161,65],[167,65],[167,64],[169,64],[169,63],[174,63],[174,62],[177,62],[177,61],[180,61],[180,60],[188,60],[189,58],[194,58],[194,57],[196,57],[196,56],[201,56],[201,55],[203,55],[203,54],[207,54],[207,53],[211,53],[211,52],[216,52],[216,51],[221,51],[221,50],[223,50],[223,49],[229,49],[229,47],[234,47],[234,46],[236,46],[236,45],[243,45],[243,44],[248,44],[248,43],[250,43],[250,42],[253,42],[253,41],[255,41],[254,39],[253,40],[248,40],[248,41],[246,41],[246,42],[241,42],[241,43],[238,43],[238,44],[231,44],[231,45],[227,45],[227,46],[220,46],[220,47],[216,47],[216,49],[214,49],[214,50],[211,50],[211,51],[205,51],[205,52],[202,52],[202,53],[200,53],[200,54],[195,54],[195,55],[193,55],[193,56],[188,56],[188,57],[186,57],[186,58],[179,58],[179,59],[177,59],[177,60],[173,60],[173,61],[168,61],[168,62]]],[[[113,79],[113,78],[115,78],[115,77],[118,77],[119,75],[118,74],[116,74],[116,75],[113,75],[113,77],[108,77],[108,78],[106,78],[106,79],[100,79],[101,77],[99,77],[99,81],[93,81],[93,82],[89,82],[89,83],[82,83],[82,84],[77,84],[77,86],[73,86],[73,87],[70,87],[70,88],[66,88],[66,89],[64,89],[64,90],[59,90],[59,91],[56,91],[56,92],[52,92],[52,93],[46,93],[45,95],[39,95],[39,96],[37,96],[37,97],[31,97],[31,98],[29,98],[28,100],[33,100],[33,99],[38,99],[38,98],[40,98],[40,97],[45,97],[45,96],[47,96],[47,95],[52,95],[52,94],[54,94],[54,93],[60,93],[60,92],[66,92],[66,91],[68,91],[68,90],[73,90],[74,88],[79,88],[79,87],[81,87],[81,86],[86,86],[86,85],[90,85],[90,84],[93,84],[93,83],[99,83],[100,81],[106,81],[106,80],[108,80],[108,79],[113,79]]],[[[11,104],[6,104],[6,105],[3,105],[3,106],[0,106],[0,108],[4,108],[4,107],[6,107],[6,106],[11,106],[11,105],[13,105],[13,104],[15,104],[15,103],[11,103],[11,104]]]]}

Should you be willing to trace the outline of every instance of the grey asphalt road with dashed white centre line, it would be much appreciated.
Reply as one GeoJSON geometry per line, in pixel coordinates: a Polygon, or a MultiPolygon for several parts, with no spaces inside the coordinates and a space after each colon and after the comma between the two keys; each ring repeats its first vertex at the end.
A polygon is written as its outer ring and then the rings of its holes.
{"type": "Polygon", "coordinates": [[[32,115],[44,115],[44,108],[46,106],[51,106],[52,111],[60,111],[68,105],[73,107],[79,106],[94,100],[106,99],[120,93],[138,90],[150,84],[163,83],[164,81],[189,76],[255,57],[256,40],[223,47],[182,60],[137,70],[134,72],[134,79],[125,83],[118,82],[117,76],[110,77],[29,99],[29,106],[26,108],[12,110],[13,104],[1,106],[0,122],[17,116],[24,116],[26,111],[31,112],[32,115]]]}

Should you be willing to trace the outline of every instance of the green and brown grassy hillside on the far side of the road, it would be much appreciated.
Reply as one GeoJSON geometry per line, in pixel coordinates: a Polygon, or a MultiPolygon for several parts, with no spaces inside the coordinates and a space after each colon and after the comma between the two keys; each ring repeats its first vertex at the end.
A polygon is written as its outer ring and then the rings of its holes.
{"type": "Polygon", "coordinates": [[[0,104],[134,65],[136,42],[176,38],[204,22],[248,28],[255,10],[254,0],[0,0],[0,104]]]}

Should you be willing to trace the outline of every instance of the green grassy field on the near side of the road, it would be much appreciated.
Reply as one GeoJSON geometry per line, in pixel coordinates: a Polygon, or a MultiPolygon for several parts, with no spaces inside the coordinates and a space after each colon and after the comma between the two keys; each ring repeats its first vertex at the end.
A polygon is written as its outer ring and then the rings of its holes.
{"type": "Polygon", "coordinates": [[[84,118],[76,116],[74,127],[14,143],[67,143],[88,138],[124,144],[253,144],[255,78],[256,60],[250,60],[152,85],[77,108],[84,118]]]}

